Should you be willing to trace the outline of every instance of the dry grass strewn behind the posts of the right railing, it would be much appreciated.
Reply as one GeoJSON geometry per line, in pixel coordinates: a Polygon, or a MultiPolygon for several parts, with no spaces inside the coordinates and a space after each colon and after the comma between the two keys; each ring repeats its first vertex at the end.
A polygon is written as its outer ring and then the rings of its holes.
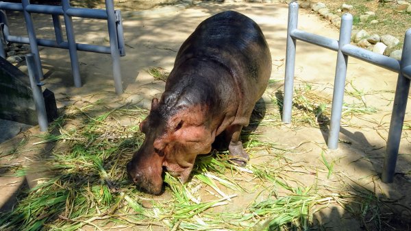
{"type": "MultiPolygon", "coordinates": [[[[277,83],[273,81],[270,84],[271,86],[275,86],[277,83]]],[[[366,104],[364,96],[371,94],[377,95],[378,92],[364,93],[364,90],[359,90],[352,82],[347,83],[347,85],[349,85],[352,90],[345,90],[345,101],[343,102],[341,114],[342,125],[349,125],[349,121],[353,116],[357,117],[363,114],[373,114],[377,112],[375,107],[366,104]]],[[[279,88],[281,87],[282,86],[279,88]]],[[[263,125],[274,127],[282,125],[278,112],[282,112],[283,95],[279,88],[274,88],[271,92],[269,91],[271,109],[274,110],[266,114],[266,117],[262,120],[263,125]]],[[[297,79],[292,99],[292,125],[297,127],[319,128],[328,126],[332,110],[332,95],[327,93],[329,89],[332,89],[332,86],[312,84],[297,79]]],[[[348,88],[346,87],[346,89],[348,88]]]]}

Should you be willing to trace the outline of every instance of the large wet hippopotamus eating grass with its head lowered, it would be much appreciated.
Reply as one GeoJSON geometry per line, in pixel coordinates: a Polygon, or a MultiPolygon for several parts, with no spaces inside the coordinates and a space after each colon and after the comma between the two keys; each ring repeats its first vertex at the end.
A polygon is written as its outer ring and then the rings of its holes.
{"type": "Polygon", "coordinates": [[[160,99],[140,130],[145,141],[127,163],[142,191],[162,192],[163,170],[186,182],[199,154],[223,136],[230,160],[244,166],[249,155],[240,132],[271,75],[271,53],[260,27],[234,11],[201,22],[177,52],[160,99]]]}

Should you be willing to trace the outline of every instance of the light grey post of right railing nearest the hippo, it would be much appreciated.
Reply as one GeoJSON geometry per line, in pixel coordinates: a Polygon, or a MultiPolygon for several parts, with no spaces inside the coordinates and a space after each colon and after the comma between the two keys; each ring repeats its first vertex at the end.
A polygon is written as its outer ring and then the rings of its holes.
{"type": "Polygon", "coordinates": [[[286,74],[284,81],[284,99],[282,108],[282,121],[291,123],[292,95],[294,93],[294,70],[296,39],[292,38],[291,32],[297,29],[298,3],[292,2],[288,5],[288,28],[287,28],[287,51],[286,51],[286,74]]]}

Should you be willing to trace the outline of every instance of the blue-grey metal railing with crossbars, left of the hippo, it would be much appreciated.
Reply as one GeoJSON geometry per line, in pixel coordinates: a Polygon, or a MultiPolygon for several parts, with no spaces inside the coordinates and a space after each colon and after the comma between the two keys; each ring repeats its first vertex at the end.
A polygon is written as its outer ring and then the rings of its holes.
{"type": "MultiPolygon", "coordinates": [[[[62,4],[59,6],[31,4],[29,0],[22,0],[21,3],[8,3],[0,1],[0,31],[2,32],[3,38],[6,42],[17,42],[30,45],[30,49],[32,50],[31,52],[34,55],[34,61],[36,62],[36,78],[38,79],[42,79],[43,77],[38,45],[44,47],[69,49],[71,70],[74,85],[76,87],[82,86],[77,50],[110,54],[113,63],[114,86],[116,93],[121,94],[123,93],[123,85],[121,83],[120,56],[125,56],[121,12],[119,10],[114,10],[113,0],[105,0],[105,8],[105,10],[73,8],[70,5],[70,0],[62,0],[62,4]],[[13,36],[10,34],[7,16],[3,10],[23,12],[28,37],[13,36]],[[32,13],[51,14],[53,18],[55,40],[36,38],[32,13]],[[60,16],[63,16],[64,18],[67,41],[64,41],[63,38],[60,16]],[[76,43],[72,20],[73,16],[87,19],[107,20],[110,47],[76,43]]],[[[2,42],[0,42],[0,56],[5,58],[5,51],[2,42]]]]}

